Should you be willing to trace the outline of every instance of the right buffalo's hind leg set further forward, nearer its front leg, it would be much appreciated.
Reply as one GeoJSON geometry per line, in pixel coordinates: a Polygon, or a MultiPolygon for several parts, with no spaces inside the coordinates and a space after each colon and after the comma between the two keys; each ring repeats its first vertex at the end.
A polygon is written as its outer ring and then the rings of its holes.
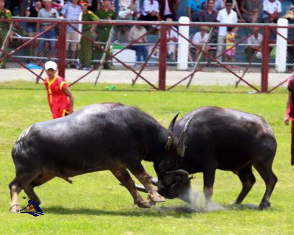
{"type": "Polygon", "coordinates": [[[238,172],[238,177],[242,182],[242,190],[237,197],[235,204],[240,204],[246,197],[248,192],[251,190],[253,184],[255,183],[255,177],[252,172],[252,165],[248,165],[238,172]]]}

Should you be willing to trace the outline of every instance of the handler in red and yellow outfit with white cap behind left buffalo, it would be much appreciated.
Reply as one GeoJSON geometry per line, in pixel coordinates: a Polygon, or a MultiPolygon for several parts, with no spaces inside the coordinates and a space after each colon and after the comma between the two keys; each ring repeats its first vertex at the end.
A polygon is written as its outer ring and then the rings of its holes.
{"type": "Polygon", "coordinates": [[[45,63],[47,78],[45,86],[47,98],[53,119],[67,116],[74,112],[74,96],[66,81],[56,73],[57,64],[54,61],[45,63]]]}

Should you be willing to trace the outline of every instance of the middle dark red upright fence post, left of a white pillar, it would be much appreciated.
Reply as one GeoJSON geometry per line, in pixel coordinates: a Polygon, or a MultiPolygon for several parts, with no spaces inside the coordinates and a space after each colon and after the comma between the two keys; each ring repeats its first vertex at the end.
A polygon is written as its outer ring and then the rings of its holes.
{"type": "Polygon", "coordinates": [[[167,27],[161,25],[160,30],[160,41],[159,41],[159,79],[158,85],[159,90],[165,90],[166,86],[166,52],[167,52],[167,27]]]}

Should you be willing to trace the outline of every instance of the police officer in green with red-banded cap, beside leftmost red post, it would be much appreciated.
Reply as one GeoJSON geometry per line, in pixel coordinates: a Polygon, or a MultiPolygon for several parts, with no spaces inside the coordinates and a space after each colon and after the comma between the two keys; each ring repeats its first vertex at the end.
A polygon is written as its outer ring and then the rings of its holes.
{"type": "MultiPolygon", "coordinates": [[[[1,0],[0,0],[1,1],[1,0]]],[[[82,8],[82,21],[98,21],[99,18],[92,11],[88,11],[88,1],[80,1],[80,6],[82,8]]],[[[88,37],[93,39],[93,34],[97,24],[83,24],[82,32],[88,37]]],[[[82,37],[78,50],[78,58],[81,63],[80,69],[88,70],[91,68],[91,58],[92,58],[92,43],[86,38],[82,37]]]]}

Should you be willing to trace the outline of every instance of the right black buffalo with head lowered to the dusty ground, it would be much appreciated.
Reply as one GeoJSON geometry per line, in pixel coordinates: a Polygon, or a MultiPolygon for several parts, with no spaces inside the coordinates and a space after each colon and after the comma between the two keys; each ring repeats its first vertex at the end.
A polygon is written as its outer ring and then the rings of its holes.
{"type": "MultiPolygon", "coordinates": [[[[189,174],[203,172],[207,204],[211,201],[216,169],[238,174],[243,188],[235,203],[240,204],[255,183],[253,166],[266,185],[259,208],[270,206],[270,195],[278,181],[272,170],[277,142],[263,117],[211,106],[198,108],[175,122],[177,116],[169,127],[176,137],[181,135],[187,121],[192,118],[182,148],[185,154],[178,168],[189,174]]],[[[158,193],[166,198],[175,198],[189,190],[188,174],[181,178],[182,181],[177,177],[173,174],[161,177],[158,193]]]]}

